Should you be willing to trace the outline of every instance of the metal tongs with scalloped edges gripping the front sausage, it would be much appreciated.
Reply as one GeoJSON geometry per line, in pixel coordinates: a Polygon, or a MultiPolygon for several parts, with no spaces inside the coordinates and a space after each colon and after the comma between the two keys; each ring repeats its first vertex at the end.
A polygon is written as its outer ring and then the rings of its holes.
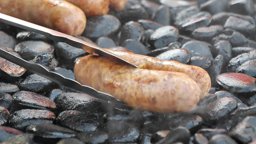
{"type": "MultiPolygon", "coordinates": [[[[58,32],[58,31],[55,31],[55,30],[52,30],[52,29],[49,29],[49,28],[46,28],[46,27],[43,27],[43,26],[40,26],[37,24],[32,24],[32,23],[14,18],[12,16],[8,16],[6,14],[2,14],[2,13],[0,13],[0,22],[5,23],[5,24],[10,24],[12,26],[16,26],[16,27],[19,27],[19,28],[22,28],[22,29],[25,29],[28,31],[42,34],[44,36],[49,37],[53,41],[65,42],[73,47],[83,48],[85,51],[89,52],[90,54],[103,56],[108,59],[117,60],[122,63],[136,67],[134,64],[132,64],[126,60],[123,60],[122,58],[116,56],[115,54],[113,54],[103,48],[100,48],[96,45],[85,42],[76,37],[66,35],[61,32],[58,32]]],[[[116,98],[114,98],[106,93],[99,92],[90,86],[79,84],[78,82],[76,82],[72,79],[69,79],[69,78],[65,78],[64,76],[62,76],[61,74],[58,74],[56,72],[50,72],[49,70],[47,70],[46,68],[44,68],[43,66],[41,66],[39,64],[30,63],[30,62],[23,60],[22,58],[19,58],[3,49],[0,49],[0,57],[4,58],[6,60],[9,60],[21,67],[24,67],[25,69],[27,69],[31,72],[37,73],[38,75],[41,75],[42,77],[45,77],[57,84],[61,84],[61,85],[70,87],[76,91],[79,91],[79,92],[82,92],[82,93],[85,93],[90,96],[94,96],[94,97],[97,97],[97,98],[100,98],[103,100],[112,101],[112,102],[117,100],[116,98]]]]}

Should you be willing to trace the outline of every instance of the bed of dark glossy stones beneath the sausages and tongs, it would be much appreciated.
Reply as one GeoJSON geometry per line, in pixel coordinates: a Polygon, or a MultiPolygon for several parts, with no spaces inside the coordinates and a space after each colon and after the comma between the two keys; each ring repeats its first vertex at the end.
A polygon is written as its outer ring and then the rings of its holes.
{"type": "MultiPolygon", "coordinates": [[[[0,144],[255,144],[254,3],[128,0],[123,10],[87,18],[77,36],[87,42],[205,69],[211,90],[188,113],[113,106],[0,58],[0,144]]],[[[0,48],[71,79],[75,61],[88,55],[6,24],[0,48]]]]}

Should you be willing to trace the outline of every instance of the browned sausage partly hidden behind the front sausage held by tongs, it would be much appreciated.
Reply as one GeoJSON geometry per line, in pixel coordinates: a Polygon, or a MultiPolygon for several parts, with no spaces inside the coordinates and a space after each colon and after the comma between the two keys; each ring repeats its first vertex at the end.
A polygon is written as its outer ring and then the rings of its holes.
{"type": "Polygon", "coordinates": [[[209,74],[202,68],[192,65],[186,65],[174,60],[158,60],[153,57],[138,55],[131,52],[121,52],[115,50],[110,52],[120,56],[124,60],[132,62],[141,69],[161,70],[170,72],[182,72],[191,77],[201,89],[200,99],[204,98],[211,88],[209,74]]]}

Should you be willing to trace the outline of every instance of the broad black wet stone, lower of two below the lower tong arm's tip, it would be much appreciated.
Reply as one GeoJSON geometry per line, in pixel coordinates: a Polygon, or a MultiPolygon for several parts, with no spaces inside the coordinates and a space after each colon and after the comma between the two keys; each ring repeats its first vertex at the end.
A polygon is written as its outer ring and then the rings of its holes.
{"type": "Polygon", "coordinates": [[[103,122],[101,114],[97,115],[97,113],[91,114],[75,110],[62,111],[57,121],[61,126],[79,132],[94,132],[103,122]]]}

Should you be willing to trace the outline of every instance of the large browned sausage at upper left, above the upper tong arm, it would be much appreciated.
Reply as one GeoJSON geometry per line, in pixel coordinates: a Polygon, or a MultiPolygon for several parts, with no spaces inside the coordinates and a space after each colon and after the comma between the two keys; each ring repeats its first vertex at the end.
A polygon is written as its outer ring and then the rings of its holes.
{"type": "Polygon", "coordinates": [[[81,35],[85,13],[64,0],[0,0],[0,12],[69,35],[81,35]]]}

